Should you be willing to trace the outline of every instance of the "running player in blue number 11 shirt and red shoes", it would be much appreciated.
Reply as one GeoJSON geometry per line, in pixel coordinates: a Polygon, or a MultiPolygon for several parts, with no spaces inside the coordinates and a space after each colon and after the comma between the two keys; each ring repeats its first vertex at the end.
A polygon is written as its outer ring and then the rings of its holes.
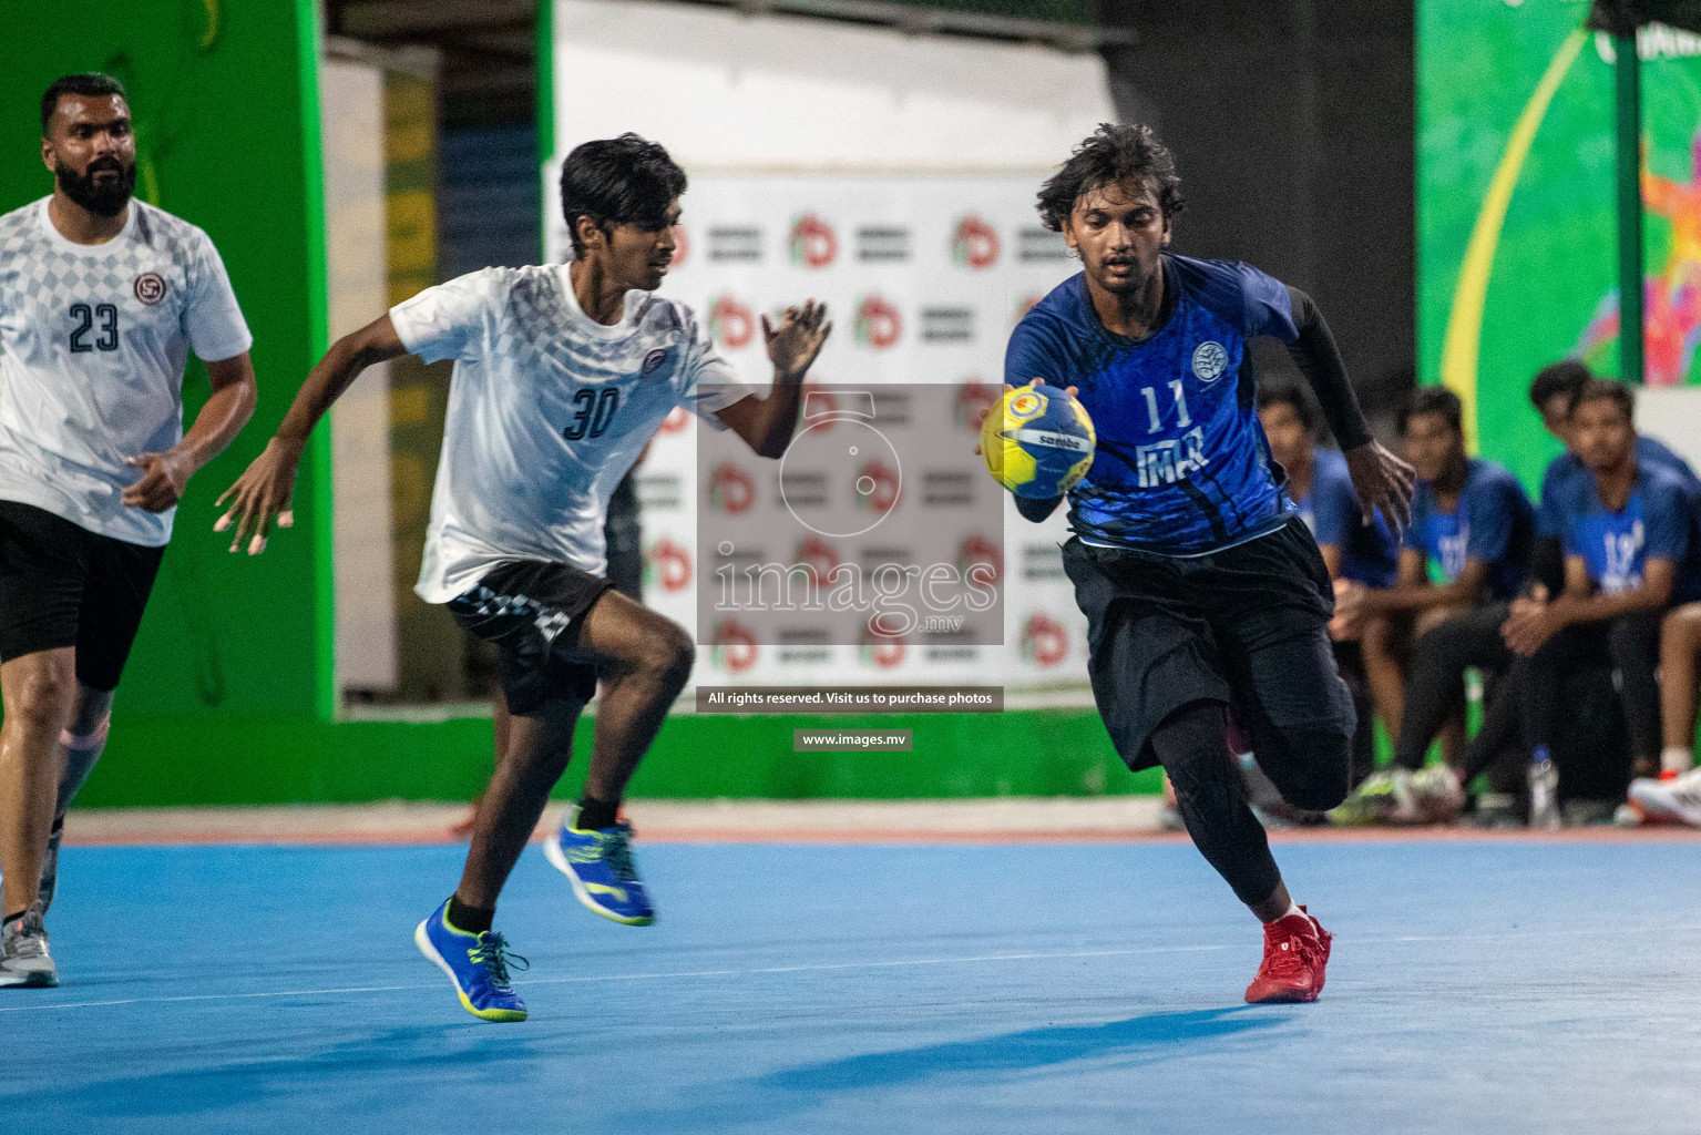
{"type": "MultiPolygon", "coordinates": [[[[1150,128],[1085,140],[1039,191],[1039,216],[1082,272],[1017,325],[1005,379],[1077,390],[1097,431],[1068,493],[1063,565],[1111,739],[1129,767],[1163,766],[1199,851],[1264,922],[1247,1001],[1315,1001],[1330,936],[1288,895],[1226,713],[1283,796],[1310,810],[1347,791],[1354,713],[1330,653],[1328,570],[1271,465],[1247,340],[1289,344],[1366,521],[1374,507],[1405,519],[1410,470],[1371,441],[1310,298],[1243,264],[1165,252],[1180,208],[1175,162],[1150,128]]],[[[1060,500],[1017,505],[1041,521],[1060,500]]]]}

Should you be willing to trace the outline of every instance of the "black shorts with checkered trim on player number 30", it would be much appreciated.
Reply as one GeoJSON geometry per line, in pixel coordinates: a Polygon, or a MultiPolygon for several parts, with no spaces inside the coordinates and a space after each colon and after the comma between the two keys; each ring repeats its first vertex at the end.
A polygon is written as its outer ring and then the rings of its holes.
{"type": "Polygon", "coordinates": [[[597,660],[578,650],[578,626],[609,580],[548,560],[507,560],[449,601],[469,635],[497,647],[497,679],[509,713],[529,716],[549,701],[583,706],[597,696],[597,660]]]}

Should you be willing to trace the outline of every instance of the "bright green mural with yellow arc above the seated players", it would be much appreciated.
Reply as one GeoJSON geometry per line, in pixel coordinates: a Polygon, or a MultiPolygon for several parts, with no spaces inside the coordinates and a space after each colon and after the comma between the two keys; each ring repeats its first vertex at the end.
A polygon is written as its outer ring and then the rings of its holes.
{"type": "MultiPolygon", "coordinates": [[[[1572,0],[1419,0],[1417,12],[1419,376],[1446,369],[1461,269],[1504,165],[1514,180],[1504,223],[1488,226],[1471,378],[1482,453],[1536,485],[1558,442],[1529,408],[1531,376],[1568,354],[1618,373],[1611,44],[1590,34],[1562,54],[1587,15],[1572,0]],[[1527,155],[1509,162],[1550,68],[1551,100],[1533,116],[1527,155]]],[[[1641,54],[1648,381],[1694,383],[1701,364],[1684,340],[1701,330],[1701,37],[1655,27],[1641,54]]]]}

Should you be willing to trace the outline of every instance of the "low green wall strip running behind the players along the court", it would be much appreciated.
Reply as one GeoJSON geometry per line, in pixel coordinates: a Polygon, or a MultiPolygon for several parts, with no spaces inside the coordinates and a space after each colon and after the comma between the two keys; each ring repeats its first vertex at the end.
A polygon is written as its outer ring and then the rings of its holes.
{"type": "MultiPolygon", "coordinates": [[[[471,800],[490,778],[490,720],[306,721],[240,715],[131,718],[83,807],[471,800]],[[168,756],[167,756],[168,754],[168,756]]],[[[590,721],[558,796],[573,798],[590,759],[590,721]]],[[[891,728],[891,716],[670,718],[633,781],[634,796],[862,800],[1152,793],[1131,776],[1092,710],[913,716],[915,752],[793,752],[793,728],[891,728]]]]}

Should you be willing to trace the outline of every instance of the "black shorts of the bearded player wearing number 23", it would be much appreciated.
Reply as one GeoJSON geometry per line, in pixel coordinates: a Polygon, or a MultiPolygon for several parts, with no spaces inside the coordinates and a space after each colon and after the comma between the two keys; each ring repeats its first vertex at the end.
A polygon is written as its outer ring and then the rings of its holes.
{"type": "Polygon", "coordinates": [[[77,648],[77,681],[117,689],[165,548],[0,500],[0,660],[77,648]]]}

